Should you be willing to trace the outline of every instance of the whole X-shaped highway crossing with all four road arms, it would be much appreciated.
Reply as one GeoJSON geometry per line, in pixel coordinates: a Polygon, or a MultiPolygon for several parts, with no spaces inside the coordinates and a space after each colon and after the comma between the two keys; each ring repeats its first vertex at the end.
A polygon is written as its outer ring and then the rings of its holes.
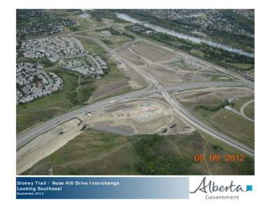
{"type": "MultiPolygon", "coordinates": [[[[74,33],[73,33],[74,34],[74,33]]],[[[69,34],[69,36],[72,36],[73,34],[69,34]]],[[[78,36],[78,35],[73,35],[78,36]]],[[[148,75],[141,69],[139,69],[136,65],[131,64],[131,62],[127,61],[123,57],[119,56],[117,53],[117,50],[112,50],[108,48],[107,45],[102,43],[101,41],[96,40],[95,38],[91,38],[89,36],[78,36],[78,37],[85,37],[90,38],[91,41],[94,41],[96,44],[100,45],[102,48],[106,50],[106,52],[110,53],[112,57],[114,57],[116,60],[121,62],[122,64],[132,67],[135,69],[140,75],[145,78],[145,80],[148,81],[149,84],[155,85],[155,88],[148,89],[149,87],[153,87],[153,85],[149,85],[148,88],[145,88],[143,90],[137,90],[133,92],[129,92],[126,94],[119,95],[117,97],[110,97],[108,99],[104,99],[100,102],[96,102],[93,104],[89,104],[87,106],[84,106],[80,109],[75,109],[73,111],[70,111],[68,113],[65,113],[61,116],[58,116],[56,118],[53,118],[52,120],[49,120],[45,123],[41,123],[39,125],[36,125],[34,127],[29,128],[28,130],[25,130],[24,132],[17,134],[17,149],[21,148],[25,144],[27,144],[29,141],[34,139],[35,137],[38,137],[38,135],[43,134],[49,130],[52,130],[54,127],[57,127],[57,125],[60,125],[61,123],[64,123],[68,120],[71,120],[72,118],[75,118],[80,113],[86,113],[89,111],[95,111],[98,109],[105,109],[108,106],[112,106],[116,103],[121,102],[127,102],[129,100],[138,99],[140,97],[149,96],[152,94],[162,94],[164,99],[172,106],[174,111],[179,114],[184,120],[186,120],[187,123],[190,125],[193,125],[198,130],[201,130],[207,134],[210,134],[212,137],[218,139],[219,141],[223,141],[224,143],[232,146],[233,148],[236,148],[239,151],[242,151],[243,153],[247,153],[247,155],[254,156],[254,148],[249,148],[249,146],[246,146],[239,141],[236,141],[235,139],[232,139],[225,134],[214,130],[212,127],[206,125],[205,123],[201,122],[198,118],[193,116],[189,111],[184,109],[175,99],[174,97],[170,97],[170,94],[168,94],[168,91],[176,91],[176,90],[192,90],[196,88],[204,88],[204,87],[236,87],[236,86],[249,86],[253,87],[254,83],[251,82],[251,80],[245,78],[244,76],[233,73],[233,71],[228,71],[227,69],[224,69],[219,66],[219,70],[224,71],[230,75],[235,76],[235,78],[239,78],[240,81],[235,82],[198,82],[198,83],[182,83],[181,85],[174,85],[169,87],[163,87],[161,84],[159,84],[152,76],[148,75]]],[[[140,37],[137,37],[140,38],[140,37]]],[[[149,41],[148,41],[149,42],[149,41]]],[[[152,43],[154,44],[154,43],[152,43]]],[[[161,47],[161,46],[159,46],[161,47]]],[[[163,47],[166,48],[166,47],[163,47]]],[[[166,48],[168,50],[168,48],[166,48]]],[[[172,50],[172,49],[171,49],[172,50]]],[[[175,52],[175,50],[172,50],[172,52],[175,52]]],[[[176,53],[176,52],[175,52],[176,53]]],[[[178,52],[182,53],[183,52],[178,52]]],[[[200,62],[203,62],[200,60],[200,62]]],[[[210,64],[208,62],[205,62],[205,64],[208,64],[208,66],[214,66],[213,64],[210,64]]],[[[217,66],[215,66],[217,67],[217,66]]]]}

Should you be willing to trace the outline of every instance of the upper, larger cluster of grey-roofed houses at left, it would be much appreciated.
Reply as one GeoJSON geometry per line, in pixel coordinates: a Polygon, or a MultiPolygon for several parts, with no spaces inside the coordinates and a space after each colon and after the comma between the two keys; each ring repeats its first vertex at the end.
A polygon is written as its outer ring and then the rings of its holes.
{"type": "Polygon", "coordinates": [[[63,69],[76,71],[89,78],[101,78],[108,65],[99,55],[89,55],[77,38],[57,36],[23,41],[20,51],[23,57],[46,57],[58,62],[63,69]]]}

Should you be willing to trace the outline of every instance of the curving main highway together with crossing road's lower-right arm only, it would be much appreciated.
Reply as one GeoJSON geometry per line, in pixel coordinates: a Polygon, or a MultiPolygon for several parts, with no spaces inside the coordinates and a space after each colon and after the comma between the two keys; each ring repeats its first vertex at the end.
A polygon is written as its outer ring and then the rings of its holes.
{"type": "Polygon", "coordinates": [[[221,132],[218,132],[211,127],[205,125],[204,123],[201,123],[200,120],[198,120],[196,117],[194,117],[191,113],[188,111],[185,111],[178,106],[177,103],[169,97],[169,94],[167,91],[173,91],[173,90],[191,90],[195,88],[203,88],[203,87],[236,87],[236,86],[244,86],[246,83],[243,82],[205,82],[205,83],[186,83],[183,85],[175,85],[172,87],[162,87],[159,89],[154,90],[138,90],[134,92],[129,92],[127,94],[122,94],[117,97],[111,97],[108,99],[105,99],[101,102],[96,102],[94,104],[89,104],[87,106],[84,106],[80,109],[76,109],[74,111],[71,111],[69,113],[65,113],[64,115],[61,115],[57,118],[54,118],[50,121],[47,121],[46,123],[43,123],[41,125],[36,125],[35,127],[32,127],[31,129],[23,132],[22,134],[17,135],[17,148],[22,147],[24,144],[27,144],[31,139],[34,139],[40,134],[43,134],[52,128],[56,127],[57,125],[64,123],[67,120],[71,120],[72,118],[75,118],[80,113],[86,113],[88,111],[95,111],[98,109],[105,109],[108,106],[112,106],[113,104],[129,101],[132,99],[136,99],[138,97],[147,96],[154,93],[162,93],[165,99],[169,102],[170,105],[172,105],[175,110],[177,110],[180,115],[182,115],[185,120],[187,120],[189,123],[194,125],[200,130],[203,130],[203,132],[207,132],[208,134],[211,134],[213,137],[224,141],[226,144],[229,144],[230,146],[233,146],[234,148],[237,148],[238,150],[247,153],[251,156],[254,155],[254,150],[252,148],[249,148],[248,146],[245,146],[244,144],[241,144],[238,141],[235,141],[234,139],[231,139],[230,137],[227,137],[225,134],[222,134],[221,132]]]}

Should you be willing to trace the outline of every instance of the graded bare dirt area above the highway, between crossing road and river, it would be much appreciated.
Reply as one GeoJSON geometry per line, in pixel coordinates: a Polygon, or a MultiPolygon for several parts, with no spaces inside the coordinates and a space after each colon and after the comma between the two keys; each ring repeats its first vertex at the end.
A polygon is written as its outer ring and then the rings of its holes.
{"type": "Polygon", "coordinates": [[[138,41],[118,50],[119,55],[153,76],[161,85],[177,85],[183,82],[207,80],[234,80],[210,66],[176,55],[155,45],[138,41]],[[215,76],[215,77],[214,77],[215,76]]]}

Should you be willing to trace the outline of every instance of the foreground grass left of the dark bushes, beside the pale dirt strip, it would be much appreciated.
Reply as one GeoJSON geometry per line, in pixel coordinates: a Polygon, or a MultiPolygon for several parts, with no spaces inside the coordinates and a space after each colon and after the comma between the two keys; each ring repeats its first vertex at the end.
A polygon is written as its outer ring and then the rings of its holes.
{"type": "Polygon", "coordinates": [[[68,144],[38,162],[27,173],[47,174],[118,174],[133,172],[138,155],[134,140],[117,134],[87,129],[68,144]],[[114,152],[115,151],[115,152],[114,152]]]}

